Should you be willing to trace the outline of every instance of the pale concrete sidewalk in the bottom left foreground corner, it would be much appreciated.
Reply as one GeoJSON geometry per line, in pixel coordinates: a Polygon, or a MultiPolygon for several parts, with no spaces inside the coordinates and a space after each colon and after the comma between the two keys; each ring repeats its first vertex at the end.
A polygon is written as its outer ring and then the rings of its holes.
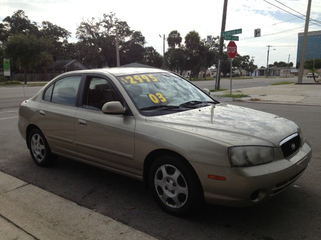
{"type": "Polygon", "coordinates": [[[155,239],[0,172],[0,239],[155,239]]]}

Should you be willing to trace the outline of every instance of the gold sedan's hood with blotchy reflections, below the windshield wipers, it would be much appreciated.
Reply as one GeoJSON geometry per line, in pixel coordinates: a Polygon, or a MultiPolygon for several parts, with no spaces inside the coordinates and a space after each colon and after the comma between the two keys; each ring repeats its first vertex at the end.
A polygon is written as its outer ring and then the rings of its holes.
{"type": "Polygon", "coordinates": [[[286,118],[225,103],[173,114],[148,116],[146,121],[232,145],[280,147],[279,142],[282,139],[299,131],[299,126],[286,118]]]}

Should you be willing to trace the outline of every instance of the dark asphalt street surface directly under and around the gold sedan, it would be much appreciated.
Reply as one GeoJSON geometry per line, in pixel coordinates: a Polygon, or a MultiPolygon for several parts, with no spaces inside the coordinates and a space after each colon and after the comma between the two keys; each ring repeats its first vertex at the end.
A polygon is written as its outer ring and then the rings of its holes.
{"type": "Polygon", "coordinates": [[[300,124],[312,144],[312,161],[305,173],[285,191],[260,205],[206,205],[197,215],[178,218],[162,211],[140,181],[62,157],[51,168],[39,167],[18,132],[17,107],[0,109],[0,170],[159,239],[320,239],[321,108],[232,104],[292,119],[300,124]]]}

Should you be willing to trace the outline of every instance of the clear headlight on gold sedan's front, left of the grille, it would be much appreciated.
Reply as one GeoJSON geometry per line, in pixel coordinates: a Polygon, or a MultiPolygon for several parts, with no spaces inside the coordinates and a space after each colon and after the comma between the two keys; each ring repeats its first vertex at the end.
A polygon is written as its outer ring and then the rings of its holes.
{"type": "Polygon", "coordinates": [[[270,146],[231,146],[228,153],[234,167],[256,166],[274,160],[274,149],[270,146]]]}

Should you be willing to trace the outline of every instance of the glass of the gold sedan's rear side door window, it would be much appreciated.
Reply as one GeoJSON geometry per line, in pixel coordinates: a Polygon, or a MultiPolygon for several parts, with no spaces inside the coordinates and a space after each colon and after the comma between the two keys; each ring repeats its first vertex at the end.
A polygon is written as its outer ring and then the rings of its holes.
{"type": "Polygon", "coordinates": [[[63,105],[75,105],[80,80],[81,76],[68,76],[56,81],[51,101],[63,105]]]}

